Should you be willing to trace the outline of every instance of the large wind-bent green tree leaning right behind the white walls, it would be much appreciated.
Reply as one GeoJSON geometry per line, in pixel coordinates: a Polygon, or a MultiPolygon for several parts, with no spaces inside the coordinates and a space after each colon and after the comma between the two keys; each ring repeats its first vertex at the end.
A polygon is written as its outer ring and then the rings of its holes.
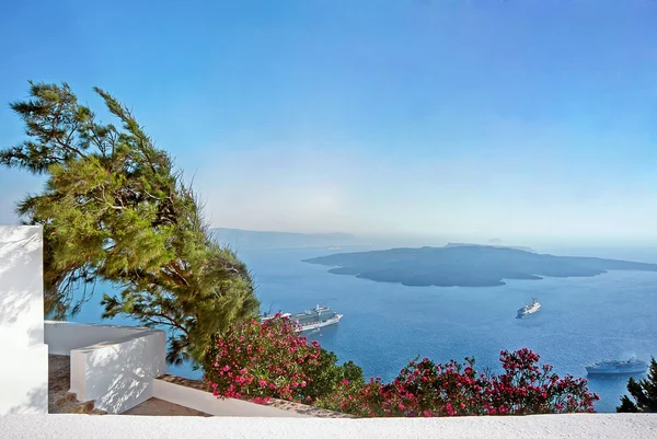
{"type": "Polygon", "coordinates": [[[28,139],[0,164],[46,176],[16,209],[44,228],[46,315],[76,312],[87,286],[107,280],[122,292],[104,296],[104,317],[168,326],[168,360],[199,362],[212,334],[257,313],[246,266],[211,239],[192,187],[128,108],[94,89],[120,126],[103,125],[68,84],[30,85],[11,104],[28,139]]]}

